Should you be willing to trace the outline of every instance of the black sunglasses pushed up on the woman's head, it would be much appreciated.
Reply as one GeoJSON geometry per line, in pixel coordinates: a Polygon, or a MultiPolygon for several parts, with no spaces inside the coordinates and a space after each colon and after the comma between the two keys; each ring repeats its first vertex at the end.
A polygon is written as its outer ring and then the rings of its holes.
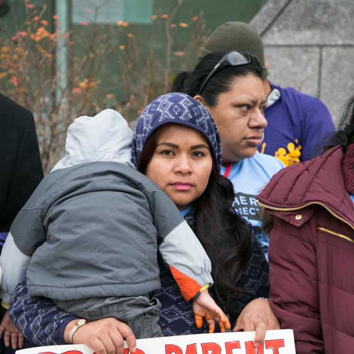
{"type": "MultiPolygon", "coordinates": [[[[254,59],[259,65],[260,68],[262,68],[262,65],[258,58],[251,52],[246,52],[241,49],[234,49],[230,51],[229,53],[226,53],[219,61],[218,63],[214,66],[214,68],[210,71],[209,75],[207,78],[204,80],[200,90],[199,94],[202,94],[203,89],[207,85],[207,82],[210,80],[210,78],[220,69],[222,69],[224,66],[239,66],[239,65],[246,65],[251,62],[251,60],[254,59]]],[[[263,68],[262,68],[263,69],[263,68]]]]}

